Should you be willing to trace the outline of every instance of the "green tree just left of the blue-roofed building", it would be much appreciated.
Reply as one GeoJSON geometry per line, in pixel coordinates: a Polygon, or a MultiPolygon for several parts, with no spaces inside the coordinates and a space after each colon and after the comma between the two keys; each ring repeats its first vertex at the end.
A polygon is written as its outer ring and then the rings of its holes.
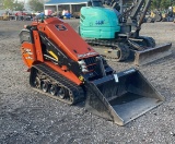
{"type": "Polygon", "coordinates": [[[28,4],[33,11],[44,11],[44,0],[30,0],[28,4]]]}

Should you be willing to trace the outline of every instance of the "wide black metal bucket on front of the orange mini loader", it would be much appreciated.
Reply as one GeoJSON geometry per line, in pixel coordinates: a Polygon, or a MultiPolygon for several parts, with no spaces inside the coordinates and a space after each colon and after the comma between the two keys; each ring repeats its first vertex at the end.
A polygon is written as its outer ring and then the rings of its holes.
{"type": "Polygon", "coordinates": [[[140,117],[165,99],[136,69],[86,82],[85,85],[85,108],[119,125],[140,117]]]}

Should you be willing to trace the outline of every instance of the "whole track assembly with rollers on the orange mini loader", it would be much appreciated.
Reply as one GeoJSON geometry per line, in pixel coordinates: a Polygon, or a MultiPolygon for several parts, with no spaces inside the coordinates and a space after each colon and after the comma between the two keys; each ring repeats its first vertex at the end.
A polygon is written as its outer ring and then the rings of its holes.
{"type": "Polygon", "coordinates": [[[79,103],[84,98],[81,86],[70,82],[46,64],[37,64],[32,68],[30,84],[36,91],[69,105],[79,103]]]}

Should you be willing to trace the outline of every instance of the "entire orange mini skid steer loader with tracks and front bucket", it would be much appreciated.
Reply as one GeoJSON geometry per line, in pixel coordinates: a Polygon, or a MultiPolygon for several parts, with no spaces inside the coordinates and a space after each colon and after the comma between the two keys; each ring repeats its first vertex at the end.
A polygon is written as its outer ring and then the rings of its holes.
{"type": "Polygon", "coordinates": [[[20,33],[31,86],[47,96],[85,107],[119,125],[164,101],[136,69],[115,72],[74,29],[57,17],[33,22],[20,33]]]}

